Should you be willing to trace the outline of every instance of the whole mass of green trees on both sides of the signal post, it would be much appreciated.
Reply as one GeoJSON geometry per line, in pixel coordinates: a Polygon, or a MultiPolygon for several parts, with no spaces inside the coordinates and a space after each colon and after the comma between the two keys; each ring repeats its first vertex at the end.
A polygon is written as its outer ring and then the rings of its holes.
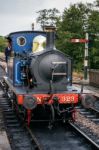
{"type": "MultiPolygon", "coordinates": [[[[99,1],[99,0],[98,0],[99,1]]],[[[96,4],[96,3],[95,3],[96,4]]],[[[97,5],[99,7],[99,5],[97,5]]],[[[70,43],[71,38],[85,38],[85,32],[99,33],[99,10],[94,4],[77,3],[66,8],[61,22],[57,25],[57,48],[70,55],[77,70],[83,68],[85,45],[70,43]]],[[[99,68],[99,41],[93,40],[89,50],[90,68],[99,68]]]]}

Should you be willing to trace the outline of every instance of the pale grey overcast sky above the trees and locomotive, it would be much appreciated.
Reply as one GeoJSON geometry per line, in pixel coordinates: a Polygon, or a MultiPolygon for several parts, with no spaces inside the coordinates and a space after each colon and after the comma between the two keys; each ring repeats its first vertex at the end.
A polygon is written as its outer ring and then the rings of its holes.
{"type": "Polygon", "coordinates": [[[86,3],[90,0],[0,0],[0,35],[30,30],[39,10],[57,8],[62,12],[77,2],[86,3]]]}

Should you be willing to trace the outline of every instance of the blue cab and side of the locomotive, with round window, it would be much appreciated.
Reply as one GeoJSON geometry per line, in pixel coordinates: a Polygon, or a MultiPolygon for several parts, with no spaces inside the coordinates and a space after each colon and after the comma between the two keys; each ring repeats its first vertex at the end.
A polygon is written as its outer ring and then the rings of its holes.
{"type": "Polygon", "coordinates": [[[42,51],[44,49],[40,37],[42,37],[43,41],[46,40],[46,33],[40,31],[20,31],[9,34],[9,38],[12,40],[14,57],[10,58],[8,62],[8,77],[14,86],[22,86],[27,82],[25,79],[27,75],[24,72],[24,68],[30,63],[29,55],[34,51],[36,53],[36,51],[42,51]],[[39,43],[40,46],[38,46],[39,43]],[[12,68],[10,69],[11,62],[12,68]]]}

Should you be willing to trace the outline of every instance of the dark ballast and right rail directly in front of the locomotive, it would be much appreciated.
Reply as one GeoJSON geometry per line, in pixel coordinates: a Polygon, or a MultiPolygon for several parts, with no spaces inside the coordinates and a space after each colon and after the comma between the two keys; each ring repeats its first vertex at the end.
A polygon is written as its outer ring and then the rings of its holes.
{"type": "MultiPolygon", "coordinates": [[[[38,125],[39,126],[39,125],[38,125]]],[[[98,150],[96,144],[77,125],[69,123],[67,126],[55,126],[51,131],[40,126],[33,128],[33,132],[44,150],[98,150]]]]}

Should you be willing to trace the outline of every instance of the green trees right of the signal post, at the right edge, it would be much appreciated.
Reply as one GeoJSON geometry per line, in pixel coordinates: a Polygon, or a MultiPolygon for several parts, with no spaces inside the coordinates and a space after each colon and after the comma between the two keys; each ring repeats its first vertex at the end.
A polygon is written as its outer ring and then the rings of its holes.
{"type": "Polygon", "coordinates": [[[93,4],[88,18],[90,68],[99,69],[99,0],[93,4]]]}

